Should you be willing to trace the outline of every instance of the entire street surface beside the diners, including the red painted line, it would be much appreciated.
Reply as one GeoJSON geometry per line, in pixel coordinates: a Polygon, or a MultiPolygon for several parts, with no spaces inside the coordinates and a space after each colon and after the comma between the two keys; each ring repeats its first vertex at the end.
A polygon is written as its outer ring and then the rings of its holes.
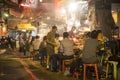
{"type": "Polygon", "coordinates": [[[0,80],[75,80],[61,72],[50,72],[30,58],[19,58],[20,53],[6,50],[0,54],[0,80]]]}

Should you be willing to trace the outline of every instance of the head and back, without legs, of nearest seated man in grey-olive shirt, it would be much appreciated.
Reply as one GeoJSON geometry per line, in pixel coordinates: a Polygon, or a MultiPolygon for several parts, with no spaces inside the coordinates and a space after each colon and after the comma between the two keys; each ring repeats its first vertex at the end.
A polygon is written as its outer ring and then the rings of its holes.
{"type": "Polygon", "coordinates": [[[97,47],[98,47],[97,33],[96,31],[91,32],[91,38],[85,41],[85,45],[83,47],[83,63],[97,63],[97,47]]]}

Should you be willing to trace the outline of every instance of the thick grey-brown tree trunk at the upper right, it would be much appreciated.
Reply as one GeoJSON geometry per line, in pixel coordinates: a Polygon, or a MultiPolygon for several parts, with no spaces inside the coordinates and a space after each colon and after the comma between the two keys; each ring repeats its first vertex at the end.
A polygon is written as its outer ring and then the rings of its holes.
{"type": "Polygon", "coordinates": [[[109,0],[96,0],[95,12],[103,35],[112,40],[112,30],[114,29],[115,22],[111,13],[111,2],[109,0]]]}

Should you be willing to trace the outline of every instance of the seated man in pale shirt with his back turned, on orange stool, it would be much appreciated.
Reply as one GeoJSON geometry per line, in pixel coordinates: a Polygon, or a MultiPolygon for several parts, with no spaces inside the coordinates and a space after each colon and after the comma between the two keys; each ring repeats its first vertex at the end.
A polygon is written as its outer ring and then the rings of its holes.
{"type": "Polygon", "coordinates": [[[62,60],[71,59],[74,57],[74,44],[69,39],[68,32],[63,33],[63,40],[61,41],[61,45],[60,45],[60,53],[62,53],[62,55],[59,56],[60,69],[61,69],[62,60]]]}

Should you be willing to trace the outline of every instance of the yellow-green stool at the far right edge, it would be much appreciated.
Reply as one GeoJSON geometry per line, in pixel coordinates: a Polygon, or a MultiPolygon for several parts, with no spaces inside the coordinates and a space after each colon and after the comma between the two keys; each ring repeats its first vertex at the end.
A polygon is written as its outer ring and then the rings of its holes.
{"type": "Polygon", "coordinates": [[[113,72],[114,72],[114,80],[117,80],[117,65],[118,62],[117,61],[108,61],[107,63],[107,71],[106,71],[106,78],[108,78],[108,71],[109,71],[109,64],[113,64],[113,72]]]}

